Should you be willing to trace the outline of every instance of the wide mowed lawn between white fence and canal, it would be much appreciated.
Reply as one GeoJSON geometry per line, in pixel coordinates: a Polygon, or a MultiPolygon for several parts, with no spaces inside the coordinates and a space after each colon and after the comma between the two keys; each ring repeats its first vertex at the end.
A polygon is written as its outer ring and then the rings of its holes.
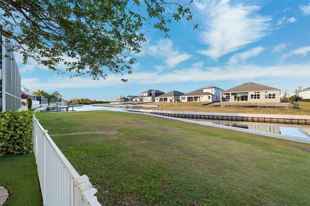
{"type": "Polygon", "coordinates": [[[310,205],[310,145],[112,111],[35,113],[102,205],[310,205]]]}

